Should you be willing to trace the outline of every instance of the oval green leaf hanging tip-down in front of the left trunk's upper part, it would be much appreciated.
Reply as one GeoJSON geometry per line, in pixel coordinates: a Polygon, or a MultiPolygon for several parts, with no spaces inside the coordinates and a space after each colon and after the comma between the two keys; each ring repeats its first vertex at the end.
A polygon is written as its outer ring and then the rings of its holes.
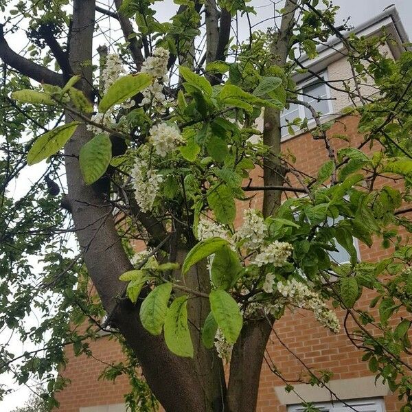
{"type": "Polygon", "coordinates": [[[110,161],[110,137],[100,133],[80,149],[79,163],[84,183],[91,185],[91,183],[100,179],[106,172],[110,161]]]}

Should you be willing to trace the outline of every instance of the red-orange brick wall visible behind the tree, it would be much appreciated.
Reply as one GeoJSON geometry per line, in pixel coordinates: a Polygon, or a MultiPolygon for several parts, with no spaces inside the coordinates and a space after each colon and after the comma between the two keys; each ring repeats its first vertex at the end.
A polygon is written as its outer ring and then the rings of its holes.
{"type": "MultiPolygon", "coordinates": [[[[352,139],[352,145],[362,141],[362,136],[357,133],[358,119],[356,117],[344,117],[337,122],[328,134],[344,133],[352,139]]],[[[332,146],[337,150],[347,146],[347,142],[341,139],[332,139],[332,146]]],[[[285,141],[282,150],[290,150],[296,157],[296,168],[316,176],[319,166],[328,160],[328,152],[325,150],[321,140],[314,141],[310,135],[302,134],[285,141]]],[[[370,151],[369,148],[366,149],[370,151]]],[[[378,150],[376,146],[374,150],[378,150]]],[[[262,171],[253,171],[253,184],[261,182],[262,171]]],[[[394,185],[393,181],[387,179],[382,181],[394,185]]],[[[249,192],[249,194],[252,194],[249,192]]],[[[255,194],[251,201],[252,207],[259,207],[262,203],[262,192],[255,194]]],[[[246,207],[247,205],[244,205],[246,207]]],[[[239,213],[237,223],[241,221],[242,213],[239,213]]],[[[382,258],[390,251],[382,251],[379,242],[370,249],[364,244],[359,244],[362,260],[376,260],[382,258]]],[[[367,308],[371,299],[371,292],[364,293],[358,302],[359,307],[367,308]]],[[[338,311],[343,325],[343,311],[338,311]]],[[[358,378],[368,376],[367,364],[361,361],[362,352],[350,343],[345,332],[332,334],[314,320],[312,313],[296,311],[285,314],[281,320],[275,322],[275,334],[272,334],[267,345],[266,358],[271,359],[277,369],[282,372],[286,379],[296,380],[304,374],[304,367],[297,358],[314,370],[329,369],[334,373],[332,379],[358,378]],[[279,339],[278,339],[279,338],[279,339]],[[284,343],[296,357],[288,352],[282,345],[284,343]]],[[[118,361],[121,353],[118,345],[108,341],[106,337],[91,343],[94,358],[73,358],[71,350],[67,350],[69,363],[64,375],[71,378],[71,385],[59,396],[60,411],[78,412],[79,407],[94,406],[98,404],[116,404],[123,402],[123,394],[127,390],[127,382],[121,377],[113,385],[111,382],[98,381],[98,375],[104,369],[104,363],[118,361]],[[103,362],[103,363],[102,363],[103,362]]],[[[270,362],[270,361],[269,361],[270,362]]],[[[266,363],[262,366],[260,380],[260,393],[258,398],[258,412],[286,411],[285,407],[279,406],[274,387],[284,385],[277,378],[266,363]]],[[[396,412],[400,409],[400,402],[396,402],[396,396],[385,398],[387,412],[396,412]]],[[[194,411],[182,411],[194,412],[194,411]]]]}

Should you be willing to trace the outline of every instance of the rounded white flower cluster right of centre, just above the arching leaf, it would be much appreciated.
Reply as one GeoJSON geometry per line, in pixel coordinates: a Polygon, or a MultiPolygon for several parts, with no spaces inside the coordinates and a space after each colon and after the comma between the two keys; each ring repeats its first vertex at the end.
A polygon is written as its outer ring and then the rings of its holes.
{"type": "Polygon", "coordinates": [[[258,249],[262,245],[267,231],[264,218],[255,209],[245,209],[243,215],[243,225],[236,232],[236,241],[243,240],[242,244],[247,249],[258,249]]]}

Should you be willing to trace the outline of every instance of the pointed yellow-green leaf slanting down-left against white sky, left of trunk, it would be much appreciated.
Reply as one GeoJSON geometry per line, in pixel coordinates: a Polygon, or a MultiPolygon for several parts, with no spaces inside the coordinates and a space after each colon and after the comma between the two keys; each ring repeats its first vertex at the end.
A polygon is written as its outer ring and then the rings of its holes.
{"type": "Polygon", "coordinates": [[[78,124],[79,122],[64,124],[63,126],[58,126],[44,135],[39,136],[27,153],[27,164],[30,166],[34,165],[39,161],[56,154],[63,146],[65,146],[67,140],[73,135],[78,124]]]}

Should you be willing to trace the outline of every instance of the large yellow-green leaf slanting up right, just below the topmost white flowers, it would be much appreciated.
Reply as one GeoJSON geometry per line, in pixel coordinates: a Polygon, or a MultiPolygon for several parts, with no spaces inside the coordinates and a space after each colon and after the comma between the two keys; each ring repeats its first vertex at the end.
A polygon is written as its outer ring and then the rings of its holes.
{"type": "Polygon", "coordinates": [[[117,79],[100,100],[100,113],[106,112],[111,106],[124,102],[146,89],[152,83],[152,76],[147,73],[130,74],[117,79]]]}

